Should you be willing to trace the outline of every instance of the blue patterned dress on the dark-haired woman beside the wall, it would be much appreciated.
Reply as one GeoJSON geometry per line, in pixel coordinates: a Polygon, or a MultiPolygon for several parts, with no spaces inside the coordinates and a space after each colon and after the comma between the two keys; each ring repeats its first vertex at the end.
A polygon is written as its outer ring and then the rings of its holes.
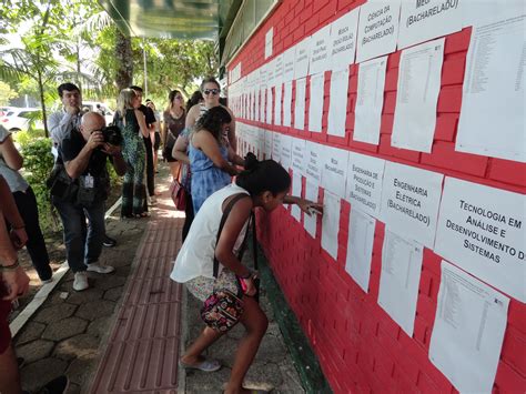
{"type": "MultiPolygon", "coordinates": [[[[229,160],[229,149],[220,147],[221,155],[229,160]]],[[[229,173],[216,168],[212,160],[192,143],[189,144],[190,170],[192,172],[191,190],[194,214],[198,214],[204,200],[218,190],[232,182],[229,173]]]]}

